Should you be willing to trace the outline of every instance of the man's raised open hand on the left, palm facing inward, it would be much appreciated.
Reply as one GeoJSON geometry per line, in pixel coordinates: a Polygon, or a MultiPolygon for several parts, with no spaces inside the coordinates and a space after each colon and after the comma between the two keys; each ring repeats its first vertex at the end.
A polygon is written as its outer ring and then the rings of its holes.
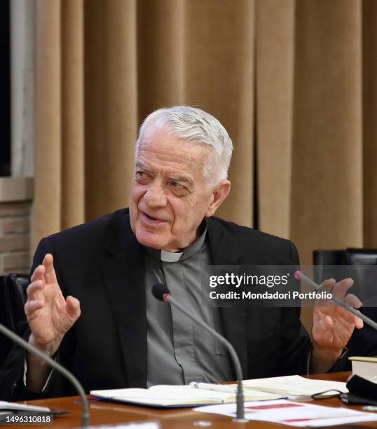
{"type": "Polygon", "coordinates": [[[27,287],[25,314],[32,335],[29,341],[53,355],[64,334],[80,315],[80,303],[74,297],[64,299],[57,283],[53,255],[46,254],[35,268],[27,287]]]}

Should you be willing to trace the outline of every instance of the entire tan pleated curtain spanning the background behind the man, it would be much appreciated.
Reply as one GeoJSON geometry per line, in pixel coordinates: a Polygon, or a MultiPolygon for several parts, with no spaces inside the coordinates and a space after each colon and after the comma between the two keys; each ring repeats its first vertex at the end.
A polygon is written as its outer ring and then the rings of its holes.
{"type": "Polygon", "coordinates": [[[234,142],[219,215],[377,247],[376,3],[36,0],[34,245],[128,205],[142,118],[190,104],[234,142]]]}

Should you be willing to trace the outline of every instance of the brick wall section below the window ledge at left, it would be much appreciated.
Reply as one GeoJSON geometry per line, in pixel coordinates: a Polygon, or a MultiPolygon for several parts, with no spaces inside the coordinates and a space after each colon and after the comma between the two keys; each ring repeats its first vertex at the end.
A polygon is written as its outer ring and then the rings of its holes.
{"type": "Polygon", "coordinates": [[[30,269],[31,203],[0,203],[0,275],[30,269]]]}

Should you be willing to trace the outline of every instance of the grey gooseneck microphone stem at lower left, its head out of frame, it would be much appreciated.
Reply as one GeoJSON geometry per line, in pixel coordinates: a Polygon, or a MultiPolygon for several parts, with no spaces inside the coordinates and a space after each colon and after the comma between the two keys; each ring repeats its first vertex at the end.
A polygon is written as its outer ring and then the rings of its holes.
{"type": "Polygon", "coordinates": [[[90,417],[89,417],[89,406],[88,406],[88,400],[85,395],[85,391],[83,389],[83,386],[81,386],[81,383],[76,379],[74,374],[68,371],[68,369],[65,369],[62,365],[55,362],[55,360],[51,359],[46,353],[41,352],[38,348],[32,346],[32,344],[29,344],[25,339],[20,338],[20,336],[16,335],[14,332],[12,332],[10,329],[5,327],[4,325],[1,325],[0,323],[0,333],[4,334],[8,339],[11,339],[14,341],[18,346],[24,348],[28,352],[32,353],[33,355],[36,355],[41,358],[41,360],[44,360],[50,367],[55,369],[57,372],[60,372],[64,377],[69,379],[71,383],[74,385],[76,390],[78,391],[78,395],[81,397],[81,401],[83,402],[83,412],[81,414],[81,426],[89,426],[90,425],[90,417]]]}

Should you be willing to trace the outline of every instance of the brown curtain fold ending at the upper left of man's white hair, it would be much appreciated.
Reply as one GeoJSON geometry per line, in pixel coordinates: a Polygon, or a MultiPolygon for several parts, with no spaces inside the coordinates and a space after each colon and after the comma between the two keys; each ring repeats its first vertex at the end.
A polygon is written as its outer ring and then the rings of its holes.
{"type": "Polygon", "coordinates": [[[185,0],[137,2],[139,121],[185,102],[185,0]]]}

